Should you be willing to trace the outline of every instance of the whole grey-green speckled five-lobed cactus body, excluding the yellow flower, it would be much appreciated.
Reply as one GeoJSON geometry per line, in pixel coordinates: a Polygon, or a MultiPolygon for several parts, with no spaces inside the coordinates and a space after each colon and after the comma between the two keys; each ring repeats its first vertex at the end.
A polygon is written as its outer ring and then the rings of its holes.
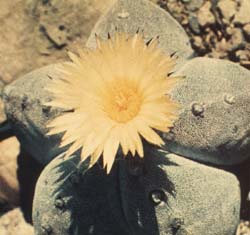
{"type": "Polygon", "coordinates": [[[164,51],[177,52],[173,72],[186,76],[171,93],[183,105],[180,119],[164,136],[166,148],[182,156],[147,148],[142,162],[117,160],[110,175],[98,164],[90,170],[79,165],[79,154],[67,160],[56,157],[63,152],[58,149],[60,136],[47,137],[45,124],[62,110],[42,105],[51,99],[44,87],[57,76],[54,65],[24,76],[5,88],[4,101],[23,148],[47,165],[33,204],[37,235],[235,231],[238,180],[195,161],[223,166],[249,158],[249,71],[231,62],[193,58],[180,25],[145,0],[117,0],[97,22],[87,46],[96,46],[95,34],[105,39],[116,29],[134,34],[138,28],[145,40],[158,35],[164,51]]]}

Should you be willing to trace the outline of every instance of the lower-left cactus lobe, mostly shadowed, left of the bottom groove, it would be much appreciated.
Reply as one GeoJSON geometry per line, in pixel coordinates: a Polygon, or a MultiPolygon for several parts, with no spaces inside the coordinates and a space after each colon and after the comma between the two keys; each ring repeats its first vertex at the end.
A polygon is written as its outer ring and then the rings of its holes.
{"type": "Polygon", "coordinates": [[[116,196],[116,171],[107,176],[98,165],[86,171],[77,155],[52,161],[36,189],[37,234],[130,234],[116,196]]]}

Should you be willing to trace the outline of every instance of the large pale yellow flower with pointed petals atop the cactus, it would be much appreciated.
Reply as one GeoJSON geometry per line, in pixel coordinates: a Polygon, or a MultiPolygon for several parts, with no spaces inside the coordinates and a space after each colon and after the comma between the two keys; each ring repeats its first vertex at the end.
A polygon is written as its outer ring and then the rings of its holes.
{"type": "Polygon", "coordinates": [[[124,156],[143,157],[142,137],[164,144],[156,130],[168,132],[177,118],[178,105],[167,93],[178,78],[167,75],[175,61],[157,43],[117,33],[97,38],[95,50],[69,53],[72,62],[62,64],[61,78],[49,84],[54,98],[46,103],[71,110],[48,125],[48,135],[64,132],[60,147],[71,144],[65,157],[81,149],[81,160],[90,157],[93,166],[103,154],[109,173],[119,146],[124,156]]]}

